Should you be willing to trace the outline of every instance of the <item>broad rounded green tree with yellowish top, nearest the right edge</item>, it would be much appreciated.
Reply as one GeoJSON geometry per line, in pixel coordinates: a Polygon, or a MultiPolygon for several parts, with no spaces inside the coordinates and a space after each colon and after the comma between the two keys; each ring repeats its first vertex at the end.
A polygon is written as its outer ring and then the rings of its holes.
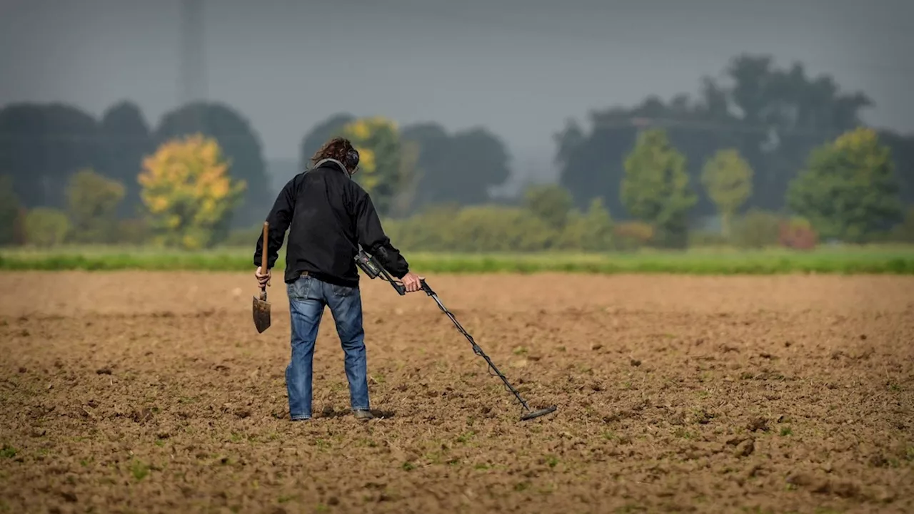
{"type": "Polygon", "coordinates": [[[823,238],[863,242],[900,221],[901,202],[887,146],[876,131],[847,131],[815,149],[787,204],[823,238]]]}

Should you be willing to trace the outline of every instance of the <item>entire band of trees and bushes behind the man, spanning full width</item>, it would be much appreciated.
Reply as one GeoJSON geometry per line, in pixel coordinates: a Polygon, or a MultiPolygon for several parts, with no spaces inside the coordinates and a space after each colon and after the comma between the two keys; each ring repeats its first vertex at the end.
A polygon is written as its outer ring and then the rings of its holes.
{"type": "MultiPolygon", "coordinates": [[[[352,139],[363,155],[356,180],[404,247],[418,249],[684,247],[699,236],[746,243],[750,233],[802,246],[906,233],[914,137],[867,129],[866,95],[767,57],[733,58],[724,76],[705,79],[696,98],[595,110],[588,130],[569,122],[556,135],[558,184],[515,199],[489,195],[508,179],[510,155],[483,128],[339,113],[304,134],[299,168],[329,137],[352,139]],[[719,226],[698,226],[707,218],[719,226]]],[[[267,186],[266,168],[256,131],[220,103],[182,106],[155,127],[129,102],[100,120],[61,104],[8,105],[0,244],[249,244],[254,232],[243,229],[282,186],[267,186]]]]}

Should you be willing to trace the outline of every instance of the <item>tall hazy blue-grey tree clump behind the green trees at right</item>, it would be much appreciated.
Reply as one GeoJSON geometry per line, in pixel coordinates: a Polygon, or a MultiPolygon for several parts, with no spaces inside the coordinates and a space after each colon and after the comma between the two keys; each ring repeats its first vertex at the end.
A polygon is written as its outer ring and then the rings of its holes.
{"type": "MultiPolygon", "coordinates": [[[[861,124],[871,105],[865,95],[842,91],[827,75],[810,76],[799,63],[775,66],[769,56],[739,55],[723,70],[723,80],[704,78],[695,98],[649,97],[631,107],[589,113],[590,128],[569,121],[556,136],[560,184],[584,207],[602,196],[611,212],[622,209],[619,187],[622,161],[632,148],[637,127],[664,127],[670,142],[686,158],[686,172],[699,182],[702,166],[715,152],[739,150],[753,173],[747,207],[780,211],[790,180],[819,144],[861,124]],[[726,80],[726,82],[724,81],[726,80]]],[[[898,137],[898,146],[914,148],[898,137]]],[[[911,162],[905,154],[892,154],[911,162]]],[[[902,180],[906,198],[914,182],[902,180]],[[907,187],[906,187],[907,184],[907,187]]],[[[702,194],[696,215],[712,215],[715,205],[702,194]]]]}

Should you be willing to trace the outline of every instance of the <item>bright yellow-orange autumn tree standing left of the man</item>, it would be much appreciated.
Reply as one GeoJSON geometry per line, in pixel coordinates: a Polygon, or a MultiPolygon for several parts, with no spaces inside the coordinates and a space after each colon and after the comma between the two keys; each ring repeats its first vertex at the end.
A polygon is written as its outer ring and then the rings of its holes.
{"type": "Polygon", "coordinates": [[[138,181],[155,241],[199,249],[218,243],[246,184],[228,176],[215,139],[202,135],[163,143],[143,160],[138,181]]]}

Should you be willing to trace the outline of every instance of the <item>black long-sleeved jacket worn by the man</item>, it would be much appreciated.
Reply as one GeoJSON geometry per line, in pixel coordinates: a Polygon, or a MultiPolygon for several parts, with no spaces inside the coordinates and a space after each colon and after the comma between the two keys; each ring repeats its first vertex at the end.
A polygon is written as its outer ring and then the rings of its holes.
{"type": "MultiPolygon", "coordinates": [[[[381,228],[371,197],[349,177],[342,163],[327,159],[295,175],[267,217],[270,223],[267,263],[276,264],[289,230],[285,282],[304,271],[325,282],[357,287],[358,245],[377,258],[391,275],[403,278],[409,264],[381,228]]],[[[263,236],[257,238],[254,266],[260,266],[263,236]]]]}

